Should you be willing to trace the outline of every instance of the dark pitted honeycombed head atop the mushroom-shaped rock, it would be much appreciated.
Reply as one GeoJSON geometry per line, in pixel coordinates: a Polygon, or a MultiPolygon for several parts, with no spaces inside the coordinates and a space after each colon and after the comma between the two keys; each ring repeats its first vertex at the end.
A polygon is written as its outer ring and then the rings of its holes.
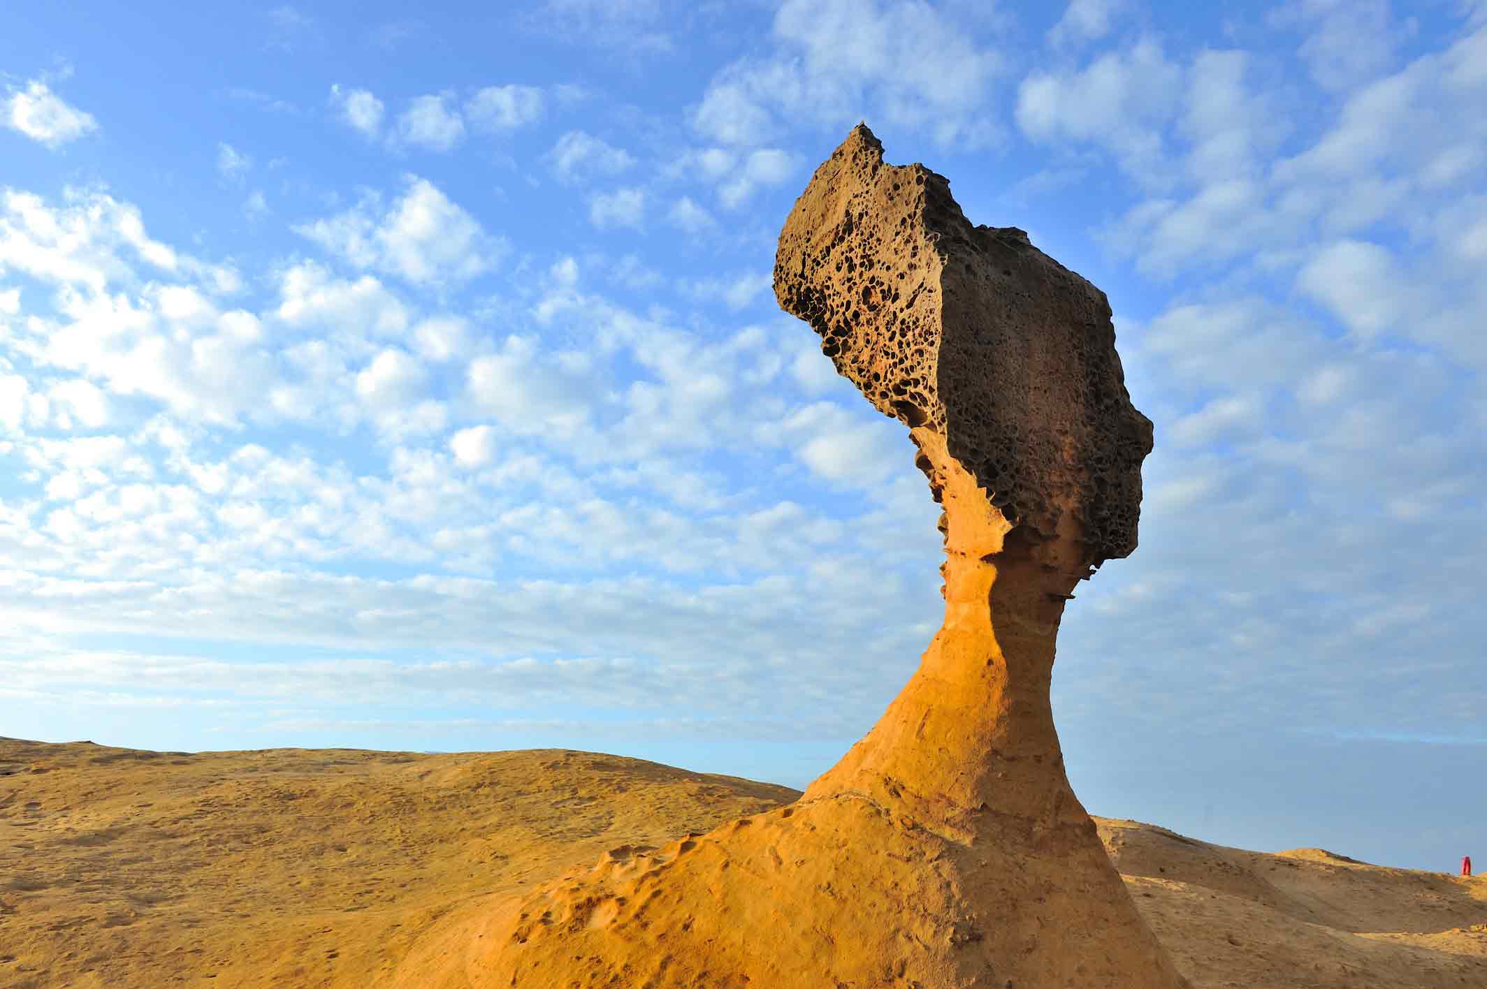
{"type": "Polygon", "coordinates": [[[944,175],[883,164],[858,125],[785,222],[775,294],[880,412],[941,433],[1023,537],[1074,535],[1093,565],[1136,547],[1152,434],[1109,302],[1023,231],[972,226],[944,175]]]}

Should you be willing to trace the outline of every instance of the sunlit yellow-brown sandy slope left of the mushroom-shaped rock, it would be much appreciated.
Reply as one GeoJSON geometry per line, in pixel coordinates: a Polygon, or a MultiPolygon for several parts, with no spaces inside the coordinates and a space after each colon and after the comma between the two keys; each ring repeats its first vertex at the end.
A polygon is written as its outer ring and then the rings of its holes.
{"type": "Polygon", "coordinates": [[[0,739],[0,986],[369,986],[468,900],[785,787],[570,751],[0,739]]]}

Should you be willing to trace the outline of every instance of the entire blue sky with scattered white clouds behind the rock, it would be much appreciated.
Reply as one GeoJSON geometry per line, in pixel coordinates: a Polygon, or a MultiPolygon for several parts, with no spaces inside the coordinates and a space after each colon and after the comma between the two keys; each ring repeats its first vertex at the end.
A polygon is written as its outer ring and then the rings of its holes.
{"type": "Polygon", "coordinates": [[[4,18],[0,735],[803,787],[943,608],[770,290],[865,120],[1108,293],[1155,422],[1059,644],[1086,806],[1487,857],[1487,0],[409,10],[4,18]]]}

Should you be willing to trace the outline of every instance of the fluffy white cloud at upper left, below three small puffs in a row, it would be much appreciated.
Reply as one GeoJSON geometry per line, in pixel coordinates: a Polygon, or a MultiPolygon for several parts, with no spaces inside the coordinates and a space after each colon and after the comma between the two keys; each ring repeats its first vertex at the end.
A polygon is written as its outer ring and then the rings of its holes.
{"type": "Polygon", "coordinates": [[[369,195],[357,207],[293,229],[357,268],[372,268],[418,286],[461,283],[491,271],[501,239],[433,183],[407,175],[407,189],[385,210],[369,195]]]}

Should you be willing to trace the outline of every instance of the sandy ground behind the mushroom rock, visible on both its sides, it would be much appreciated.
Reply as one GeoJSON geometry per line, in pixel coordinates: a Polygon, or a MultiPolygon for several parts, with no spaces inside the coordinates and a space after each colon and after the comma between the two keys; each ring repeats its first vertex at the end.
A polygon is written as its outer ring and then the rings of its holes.
{"type": "MultiPolygon", "coordinates": [[[[0,986],[470,986],[503,903],[796,796],[568,751],[0,739],[0,986]]],[[[1487,986],[1487,877],[1096,824],[1196,988],[1487,986]]]]}

